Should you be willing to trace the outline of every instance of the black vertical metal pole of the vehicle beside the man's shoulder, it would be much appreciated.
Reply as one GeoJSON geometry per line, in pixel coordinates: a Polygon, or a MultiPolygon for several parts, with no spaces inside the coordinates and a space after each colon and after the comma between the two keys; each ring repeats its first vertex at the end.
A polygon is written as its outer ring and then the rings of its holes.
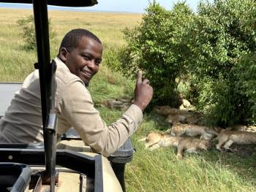
{"type": "Polygon", "coordinates": [[[52,90],[54,67],[50,65],[47,0],[33,0],[34,23],[37,37],[37,58],[42,104],[42,126],[45,145],[45,180],[50,179],[50,191],[55,190],[56,166],[56,115],[55,91],[52,90]]]}

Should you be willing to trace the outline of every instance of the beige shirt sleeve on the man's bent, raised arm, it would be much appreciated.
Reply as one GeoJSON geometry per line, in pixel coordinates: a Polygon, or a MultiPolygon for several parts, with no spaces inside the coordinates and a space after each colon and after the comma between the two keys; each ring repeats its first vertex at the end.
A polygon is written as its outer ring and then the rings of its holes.
{"type": "Polygon", "coordinates": [[[97,153],[109,156],[114,153],[138,128],[143,113],[132,104],[110,126],[94,108],[91,95],[83,83],[71,82],[61,96],[61,115],[75,128],[80,137],[97,153]]]}

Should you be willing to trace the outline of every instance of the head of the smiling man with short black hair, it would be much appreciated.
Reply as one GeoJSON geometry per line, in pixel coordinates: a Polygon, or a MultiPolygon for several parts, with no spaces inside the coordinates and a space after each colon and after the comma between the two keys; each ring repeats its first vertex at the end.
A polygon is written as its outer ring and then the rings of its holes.
{"type": "Polygon", "coordinates": [[[102,51],[102,42],[94,34],[76,29],[69,31],[62,40],[59,58],[72,74],[80,77],[88,86],[91,78],[99,70],[102,51]]]}

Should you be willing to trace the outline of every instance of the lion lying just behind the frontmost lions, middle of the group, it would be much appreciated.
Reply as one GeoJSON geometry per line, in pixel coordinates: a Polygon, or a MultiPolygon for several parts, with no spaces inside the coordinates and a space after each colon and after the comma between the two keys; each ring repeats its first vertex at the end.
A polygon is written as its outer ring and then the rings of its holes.
{"type": "Polygon", "coordinates": [[[189,137],[201,135],[203,139],[211,139],[213,135],[218,135],[219,133],[215,131],[214,128],[208,128],[206,126],[175,123],[171,128],[170,134],[173,136],[185,134],[189,137]]]}

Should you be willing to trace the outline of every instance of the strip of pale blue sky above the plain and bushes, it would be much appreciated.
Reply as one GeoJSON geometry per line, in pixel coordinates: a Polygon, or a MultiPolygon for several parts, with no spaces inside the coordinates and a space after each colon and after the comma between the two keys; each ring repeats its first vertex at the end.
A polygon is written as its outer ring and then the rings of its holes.
{"type": "MultiPolygon", "coordinates": [[[[98,0],[97,5],[94,7],[84,7],[83,9],[72,9],[72,10],[86,10],[86,11],[108,11],[108,12],[145,12],[146,7],[148,7],[148,2],[152,0],[98,0]]],[[[165,9],[171,9],[173,4],[176,4],[180,0],[156,0],[165,9]]],[[[187,0],[187,4],[194,11],[197,9],[197,4],[200,0],[187,0]]],[[[30,4],[5,4],[0,3],[0,7],[16,7],[16,8],[26,8],[31,9],[30,4]]],[[[49,9],[69,9],[63,7],[49,7],[49,9]]]]}

